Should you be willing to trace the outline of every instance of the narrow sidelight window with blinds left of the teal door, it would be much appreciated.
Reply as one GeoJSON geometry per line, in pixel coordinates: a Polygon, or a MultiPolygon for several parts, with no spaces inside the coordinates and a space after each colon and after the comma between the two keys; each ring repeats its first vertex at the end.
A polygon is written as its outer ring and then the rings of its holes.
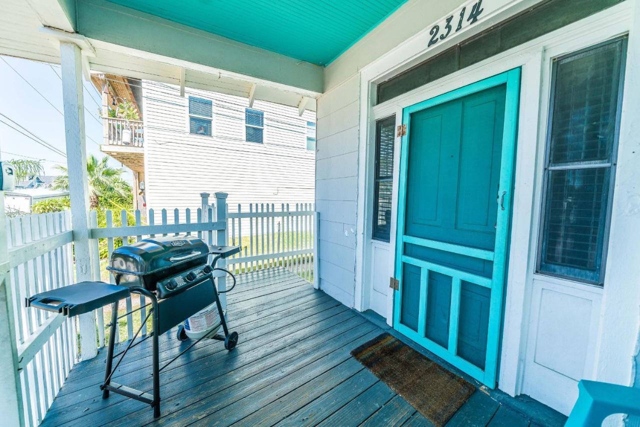
{"type": "Polygon", "coordinates": [[[372,238],[389,241],[391,196],[394,174],[394,130],[396,116],[376,122],[376,170],[373,195],[372,238]]]}

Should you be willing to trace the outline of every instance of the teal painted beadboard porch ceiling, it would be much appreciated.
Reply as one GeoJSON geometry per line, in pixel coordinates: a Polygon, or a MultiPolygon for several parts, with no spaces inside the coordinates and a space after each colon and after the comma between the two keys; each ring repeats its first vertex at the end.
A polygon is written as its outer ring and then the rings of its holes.
{"type": "Polygon", "coordinates": [[[406,0],[109,0],[186,26],[327,65],[406,0]]]}

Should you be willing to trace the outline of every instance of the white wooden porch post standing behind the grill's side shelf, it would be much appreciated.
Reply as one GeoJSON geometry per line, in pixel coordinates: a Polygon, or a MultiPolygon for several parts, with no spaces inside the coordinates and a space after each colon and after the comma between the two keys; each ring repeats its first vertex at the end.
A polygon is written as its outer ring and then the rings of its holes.
{"type": "MultiPolygon", "coordinates": [[[[86,140],[84,136],[84,100],[82,85],[82,55],[80,47],[70,42],[60,42],[62,68],[62,98],[65,108],[65,139],[67,141],[67,166],[71,223],[74,230],[76,255],[76,279],[78,282],[93,280],[92,261],[95,251],[89,243],[89,188],[86,172],[86,140]]],[[[97,354],[95,313],[80,316],[80,349],[82,359],[97,354]]]]}

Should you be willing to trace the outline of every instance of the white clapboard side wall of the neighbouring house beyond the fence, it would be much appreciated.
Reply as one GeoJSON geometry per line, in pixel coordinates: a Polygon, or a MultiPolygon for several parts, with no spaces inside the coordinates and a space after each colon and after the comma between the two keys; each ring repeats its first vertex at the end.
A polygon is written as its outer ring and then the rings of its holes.
{"type": "MultiPolygon", "coordinates": [[[[314,200],[315,152],[307,150],[307,121],[315,113],[255,101],[264,111],[264,143],[244,140],[248,99],[143,81],[147,207],[158,211],[200,205],[198,193],[224,189],[230,211],[237,204],[314,200]],[[189,134],[188,97],[211,99],[212,136],[189,134]]],[[[184,220],[181,216],[180,221],[184,220]]]]}

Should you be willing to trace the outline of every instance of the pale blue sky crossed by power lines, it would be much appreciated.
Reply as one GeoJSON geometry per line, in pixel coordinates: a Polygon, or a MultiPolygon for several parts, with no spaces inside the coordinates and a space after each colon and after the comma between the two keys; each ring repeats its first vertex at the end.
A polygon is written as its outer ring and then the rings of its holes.
{"type": "MultiPolygon", "coordinates": [[[[26,127],[31,133],[57,149],[66,152],[64,119],[56,110],[57,108],[63,111],[60,66],[10,56],[0,56],[0,58],[0,113],[26,127]],[[9,65],[15,68],[15,71],[9,65]],[[25,80],[42,93],[42,96],[25,80]]],[[[83,86],[86,107],[84,110],[86,150],[87,154],[101,158],[106,154],[100,152],[98,145],[102,141],[102,123],[98,116],[100,94],[88,81],[83,81],[83,86]]],[[[2,116],[0,119],[10,123],[2,116]]],[[[14,125],[14,127],[17,126],[14,125]]],[[[67,166],[65,157],[14,131],[2,122],[0,122],[0,158],[3,160],[43,159],[46,175],[60,175],[61,172],[56,170],[55,166],[67,166]]],[[[124,168],[126,171],[124,179],[131,182],[132,175],[129,169],[115,159],[111,159],[109,165],[124,168]]]]}

